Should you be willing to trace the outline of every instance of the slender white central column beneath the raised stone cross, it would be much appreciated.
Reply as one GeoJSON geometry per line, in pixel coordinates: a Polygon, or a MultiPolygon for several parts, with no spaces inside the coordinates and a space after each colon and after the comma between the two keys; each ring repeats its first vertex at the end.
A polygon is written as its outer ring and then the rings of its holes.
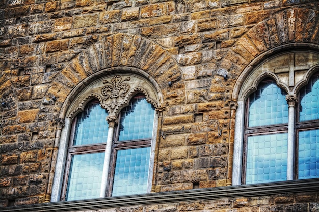
{"type": "Polygon", "coordinates": [[[287,95],[288,103],[288,152],[287,152],[287,180],[294,179],[294,138],[295,138],[295,105],[298,103],[296,95],[287,95]]]}

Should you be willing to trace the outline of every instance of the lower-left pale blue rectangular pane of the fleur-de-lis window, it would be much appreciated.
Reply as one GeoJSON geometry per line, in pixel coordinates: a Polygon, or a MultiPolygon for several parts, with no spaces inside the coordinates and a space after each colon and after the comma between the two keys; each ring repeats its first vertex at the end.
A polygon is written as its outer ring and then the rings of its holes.
{"type": "Polygon", "coordinates": [[[98,198],[105,153],[72,156],[66,201],[98,198]]]}

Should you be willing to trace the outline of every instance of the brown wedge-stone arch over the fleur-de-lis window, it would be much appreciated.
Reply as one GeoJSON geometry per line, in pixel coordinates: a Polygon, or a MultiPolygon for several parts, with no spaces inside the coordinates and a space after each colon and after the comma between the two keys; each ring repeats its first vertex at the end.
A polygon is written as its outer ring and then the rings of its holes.
{"type": "MultiPolygon", "coordinates": [[[[118,72],[144,75],[158,85],[158,92],[169,88],[169,81],[177,82],[182,77],[176,60],[163,47],[139,35],[118,33],[101,38],[79,53],[55,78],[46,93],[47,99],[56,99],[55,103],[43,106],[54,107],[58,118],[61,107],[70,104],[76,90],[100,76],[118,72]]],[[[181,88],[179,84],[176,86],[181,88]]],[[[65,112],[62,113],[60,118],[65,116],[65,112]]]]}

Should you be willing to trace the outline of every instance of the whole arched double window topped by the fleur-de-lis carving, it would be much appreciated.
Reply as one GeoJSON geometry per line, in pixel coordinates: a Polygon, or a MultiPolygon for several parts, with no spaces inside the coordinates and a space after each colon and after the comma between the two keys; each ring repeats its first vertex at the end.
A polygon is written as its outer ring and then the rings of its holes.
{"type": "Polygon", "coordinates": [[[149,193],[159,95],[136,74],[86,86],[66,112],[51,201],[149,193]]]}

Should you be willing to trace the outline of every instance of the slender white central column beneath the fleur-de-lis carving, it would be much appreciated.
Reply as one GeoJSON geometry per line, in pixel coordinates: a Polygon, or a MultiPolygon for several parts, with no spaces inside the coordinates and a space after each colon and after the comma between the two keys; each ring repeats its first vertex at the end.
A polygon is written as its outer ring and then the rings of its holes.
{"type": "Polygon", "coordinates": [[[109,124],[109,130],[108,130],[107,146],[105,147],[105,157],[104,157],[100,197],[105,197],[105,194],[107,192],[112,140],[113,140],[113,134],[114,134],[114,127],[116,124],[118,124],[118,118],[116,116],[107,116],[107,121],[109,124]]]}

